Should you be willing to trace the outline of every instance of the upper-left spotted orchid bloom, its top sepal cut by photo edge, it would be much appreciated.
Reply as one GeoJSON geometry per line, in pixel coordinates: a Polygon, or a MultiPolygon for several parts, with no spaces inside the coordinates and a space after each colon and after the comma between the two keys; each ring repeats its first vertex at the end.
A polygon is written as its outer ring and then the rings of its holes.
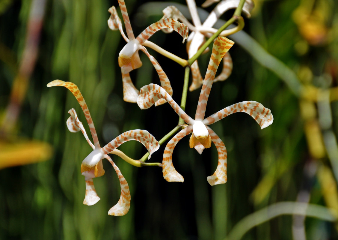
{"type": "MultiPolygon", "coordinates": [[[[188,27],[178,22],[172,18],[161,19],[158,22],[151,24],[147,27],[139,36],[135,38],[134,33],[132,32],[127,8],[125,6],[124,0],[119,0],[119,5],[123,17],[123,21],[125,24],[127,36],[125,36],[122,24],[119,16],[117,15],[116,8],[112,6],[109,8],[108,12],[111,13],[110,18],[108,19],[108,26],[112,30],[119,29],[121,32],[122,37],[127,42],[127,44],[122,48],[119,53],[119,66],[121,67],[122,72],[122,83],[123,83],[123,100],[126,102],[136,103],[137,97],[139,96],[140,92],[138,89],[135,88],[134,84],[132,84],[129,72],[136,68],[142,66],[142,62],[140,60],[140,56],[138,51],[143,51],[149,60],[151,61],[152,65],[156,69],[156,72],[159,75],[161,86],[170,94],[172,95],[172,88],[170,85],[170,81],[163,71],[160,64],[156,61],[156,59],[149,54],[147,49],[143,46],[145,43],[150,43],[147,41],[156,31],[159,31],[163,28],[170,28],[175,30],[183,37],[183,42],[188,37],[188,27]]],[[[153,43],[152,43],[153,44],[153,43]]],[[[154,45],[154,44],[153,44],[154,45]]],[[[165,103],[165,100],[159,100],[155,103],[155,106],[165,103]]]]}

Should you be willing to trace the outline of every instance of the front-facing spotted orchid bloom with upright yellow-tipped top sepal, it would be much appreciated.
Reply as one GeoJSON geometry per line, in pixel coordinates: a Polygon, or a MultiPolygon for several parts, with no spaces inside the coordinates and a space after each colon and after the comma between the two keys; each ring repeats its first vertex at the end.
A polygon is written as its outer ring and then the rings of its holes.
{"type": "Polygon", "coordinates": [[[225,37],[218,37],[214,42],[212,55],[207,69],[206,77],[204,78],[203,86],[198,100],[195,119],[192,119],[186,114],[182,108],[172,99],[166,91],[156,84],[149,84],[141,88],[141,95],[138,97],[138,105],[141,109],[149,108],[157,99],[161,97],[167,100],[175,112],[181,117],[189,126],[178,132],[171,140],[169,140],[163,154],[162,168],[163,177],[167,181],[183,182],[184,179],[174,168],[172,163],[173,150],[180,139],[190,134],[190,148],[195,148],[199,154],[204,148],[211,147],[213,142],[218,151],[218,166],[215,173],[207,178],[210,185],[225,183],[226,177],[226,148],[222,140],[209,127],[220,119],[235,113],[245,112],[250,114],[256,122],[261,126],[261,129],[266,128],[273,122],[273,116],[270,109],[265,108],[262,104],[254,101],[245,101],[236,103],[226,107],[215,114],[204,118],[209,93],[215,78],[218,65],[222,60],[225,52],[234,44],[233,41],[225,37]]]}

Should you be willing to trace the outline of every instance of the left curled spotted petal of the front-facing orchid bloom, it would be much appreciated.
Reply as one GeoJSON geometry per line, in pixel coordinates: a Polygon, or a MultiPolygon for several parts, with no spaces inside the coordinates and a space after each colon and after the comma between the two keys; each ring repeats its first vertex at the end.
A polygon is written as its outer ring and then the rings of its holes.
{"type": "Polygon", "coordinates": [[[150,108],[159,99],[165,99],[170,106],[175,110],[187,124],[194,124],[194,120],[183,111],[182,108],[172,99],[164,88],[157,84],[149,84],[143,86],[140,90],[140,95],[137,98],[137,104],[141,109],[150,108]]]}

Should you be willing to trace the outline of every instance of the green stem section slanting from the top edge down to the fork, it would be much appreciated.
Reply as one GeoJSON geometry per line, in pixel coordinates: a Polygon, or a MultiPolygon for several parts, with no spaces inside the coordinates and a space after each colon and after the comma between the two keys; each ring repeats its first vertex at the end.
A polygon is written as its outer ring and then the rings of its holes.
{"type": "Polygon", "coordinates": [[[240,0],[239,4],[238,4],[238,7],[236,8],[235,10],[235,13],[234,15],[232,16],[231,19],[229,19],[221,28],[219,28],[217,30],[217,32],[214,33],[213,36],[211,36],[199,49],[198,51],[195,53],[194,56],[192,56],[189,60],[188,60],[188,63],[189,63],[189,66],[191,64],[193,64],[193,62],[195,62],[195,60],[202,54],[202,52],[220,35],[220,33],[225,29],[227,28],[228,26],[230,26],[232,23],[234,22],[238,22],[240,27],[237,28],[236,30],[239,31],[241,29],[243,29],[244,27],[244,20],[243,18],[241,17],[241,12],[242,12],[242,8],[243,8],[243,5],[245,3],[245,0],[240,0]]]}

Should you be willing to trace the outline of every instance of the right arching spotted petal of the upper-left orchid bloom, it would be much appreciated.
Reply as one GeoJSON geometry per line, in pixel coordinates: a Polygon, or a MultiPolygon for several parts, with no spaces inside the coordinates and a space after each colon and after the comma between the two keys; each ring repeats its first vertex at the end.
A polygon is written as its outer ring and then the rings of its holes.
{"type": "Polygon", "coordinates": [[[173,18],[164,18],[144,29],[144,31],[141,32],[136,40],[139,41],[140,44],[142,44],[146,40],[148,40],[156,31],[159,31],[163,28],[171,28],[178,32],[178,34],[183,37],[183,43],[188,38],[189,30],[186,24],[180,23],[173,18]]]}

